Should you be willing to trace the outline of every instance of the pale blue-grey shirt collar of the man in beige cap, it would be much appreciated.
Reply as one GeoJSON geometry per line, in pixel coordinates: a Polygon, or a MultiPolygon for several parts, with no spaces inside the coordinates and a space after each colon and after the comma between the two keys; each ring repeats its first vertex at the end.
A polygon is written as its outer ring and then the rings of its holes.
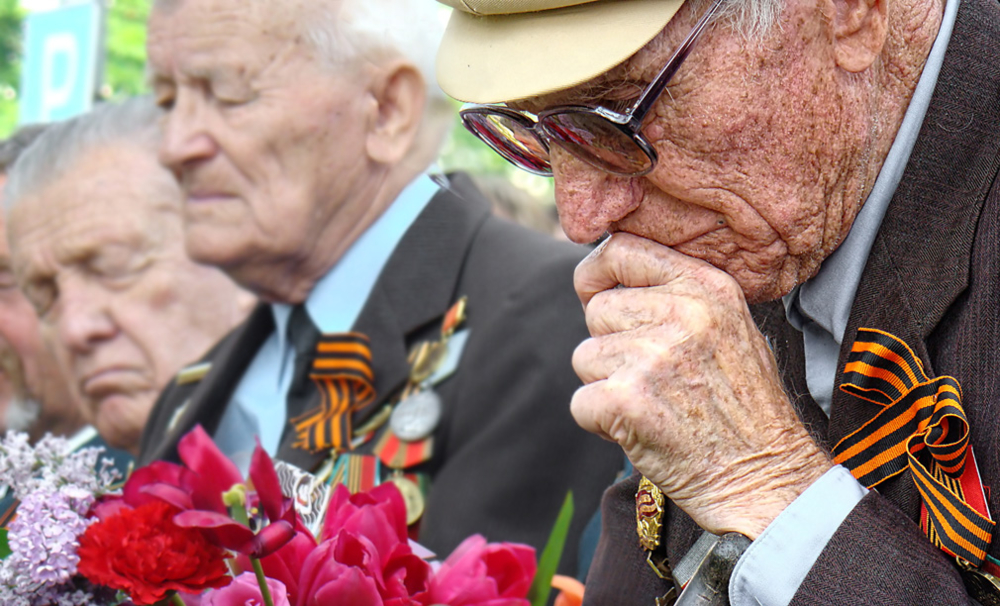
{"type": "Polygon", "coordinates": [[[910,160],[913,145],[930,107],[941,66],[944,64],[944,55],[951,41],[959,1],[947,0],[945,3],[941,28],[913,91],[899,132],[850,233],[840,247],[823,261],[813,278],[782,298],[789,322],[799,330],[802,330],[808,318],[830,333],[838,344],[843,342],[854,296],[875,242],[875,235],[910,160]]]}

